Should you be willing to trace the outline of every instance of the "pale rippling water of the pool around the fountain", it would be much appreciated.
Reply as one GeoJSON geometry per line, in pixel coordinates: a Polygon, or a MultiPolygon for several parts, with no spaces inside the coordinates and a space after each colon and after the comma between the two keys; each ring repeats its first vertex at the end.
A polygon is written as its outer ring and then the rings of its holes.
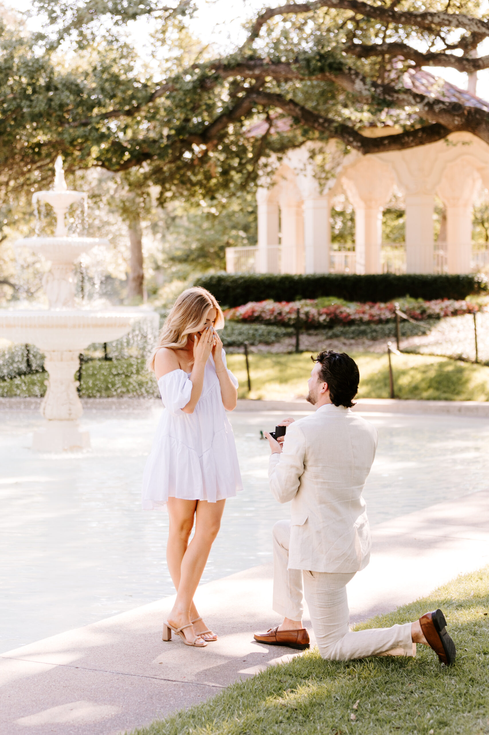
{"type": "MultiPolygon", "coordinates": [[[[92,449],[53,455],[29,450],[37,412],[2,410],[1,652],[173,594],[167,514],[140,509],[159,412],[87,409],[92,449]]],[[[372,525],[488,487],[489,420],[365,416],[380,434],[365,490],[372,525]]],[[[259,431],[279,417],[231,415],[245,491],[227,503],[203,581],[272,559],[270,531],[289,506],[269,493],[259,431]]]]}

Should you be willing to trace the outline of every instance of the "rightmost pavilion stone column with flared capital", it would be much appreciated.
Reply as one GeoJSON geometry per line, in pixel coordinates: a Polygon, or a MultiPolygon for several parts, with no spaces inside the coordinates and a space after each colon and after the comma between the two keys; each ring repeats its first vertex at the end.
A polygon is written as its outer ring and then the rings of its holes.
{"type": "Polygon", "coordinates": [[[472,259],[472,204],[480,184],[469,162],[448,165],[438,186],[446,206],[446,252],[449,273],[470,273],[472,259]]]}

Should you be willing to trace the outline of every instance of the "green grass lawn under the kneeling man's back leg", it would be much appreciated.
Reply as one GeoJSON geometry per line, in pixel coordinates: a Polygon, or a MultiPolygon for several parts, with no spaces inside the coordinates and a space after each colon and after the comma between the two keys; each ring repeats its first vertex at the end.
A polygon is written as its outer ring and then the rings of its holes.
{"type": "Polygon", "coordinates": [[[437,607],[457,645],[452,667],[421,645],[416,659],[345,662],[323,661],[314,649],[134,735],[488,734],[489,567],[358,628],[406,623],[437,607]]]}

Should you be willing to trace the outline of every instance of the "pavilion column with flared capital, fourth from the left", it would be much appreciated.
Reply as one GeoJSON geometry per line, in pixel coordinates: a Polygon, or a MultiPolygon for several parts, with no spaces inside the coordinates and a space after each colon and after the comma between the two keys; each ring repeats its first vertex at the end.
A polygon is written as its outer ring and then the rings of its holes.
{"type": "Polygon", "coordinates": [[[350,166],[341,179],[355,208],[355,270],[380,273],[382,211],[394,188],[391,169],[371,156],[350,166]]]}

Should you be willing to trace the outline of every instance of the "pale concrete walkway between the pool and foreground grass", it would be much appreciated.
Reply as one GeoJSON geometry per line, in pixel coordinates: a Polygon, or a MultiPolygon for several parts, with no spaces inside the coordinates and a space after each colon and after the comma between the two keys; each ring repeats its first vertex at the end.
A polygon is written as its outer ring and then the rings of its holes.
{"type": "MultiPolygon", "coordinates": [[[[488,514],[489,490],[376,526],[372,561],[349,584],[352,622],[488,564],[488,514]]],[[[115,735],[288,659],[288,649],[253,642],[278,621],[271,596],[271,565],[200,587],[198,609],[220,636],[204,650],[162,642],[173,603],[164,598],[4,653],[0,732],[115,735]]]]}

